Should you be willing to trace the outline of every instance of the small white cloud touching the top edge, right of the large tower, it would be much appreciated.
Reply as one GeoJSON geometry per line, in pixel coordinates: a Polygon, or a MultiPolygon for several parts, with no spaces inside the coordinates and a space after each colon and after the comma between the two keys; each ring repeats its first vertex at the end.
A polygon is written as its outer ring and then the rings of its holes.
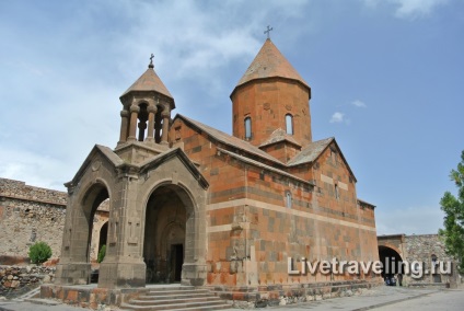
{"type": "Polygon", "coordinates": [[[363,0],[369,7],[388,3],[395,8],[395,16],[399,19],[424,18],[449,0],[363,0]]]}

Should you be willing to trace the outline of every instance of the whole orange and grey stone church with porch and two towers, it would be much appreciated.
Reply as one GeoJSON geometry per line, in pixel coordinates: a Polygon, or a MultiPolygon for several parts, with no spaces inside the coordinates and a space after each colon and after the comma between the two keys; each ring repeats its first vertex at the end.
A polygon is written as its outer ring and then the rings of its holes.
{"type": "Polygon", "coordinates": [[[230,97],[232,136],[174,116],[150,62],[120,96],[116,148],[95,146],[66,184],[56,285],[89,283],[92,219],[105,200],[98,288],[179,283],[246,300],[379,280],[289,273],[302,257],[370,262],[379,253],[374,206],[357,197],[335,138],[313,140],[310,84],[269,38],[230,97]]]}

